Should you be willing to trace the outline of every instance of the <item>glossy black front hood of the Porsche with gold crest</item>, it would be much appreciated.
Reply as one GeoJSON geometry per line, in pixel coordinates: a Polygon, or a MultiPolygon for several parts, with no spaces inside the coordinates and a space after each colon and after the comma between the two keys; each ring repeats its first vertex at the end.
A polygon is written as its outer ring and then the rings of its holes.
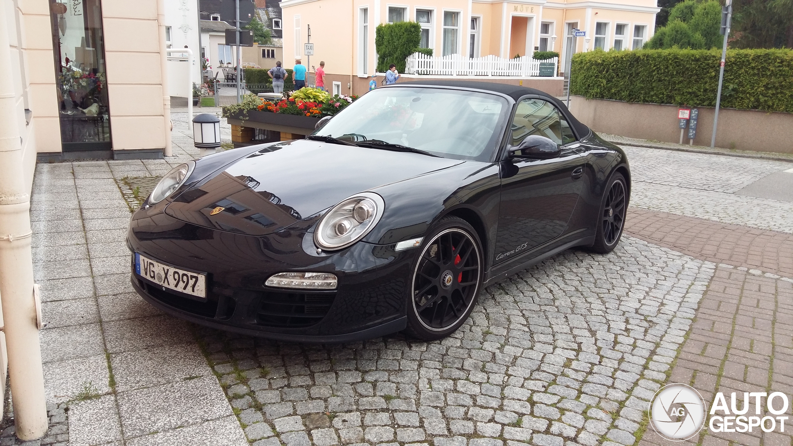
{"type": "Polygon", "coordinates": [[[165,212],[207,228],[262,236],[359,192],[462,162],[410,152],[289,141],[262,148],[201,179],[179,194],[165,212]]]}

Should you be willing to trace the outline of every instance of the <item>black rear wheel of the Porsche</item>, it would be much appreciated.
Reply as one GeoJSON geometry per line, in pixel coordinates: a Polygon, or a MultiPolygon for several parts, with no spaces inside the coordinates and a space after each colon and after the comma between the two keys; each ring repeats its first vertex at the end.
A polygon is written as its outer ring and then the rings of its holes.
{"type": "Polygon", "coordinates": [[[595,243],[589,247],[592,252],[607,254],[619,244],[625,229],[625,215],[628,205],[628,187],[623,174],[615,172],[606,183],[600,212],[597,216],[595,243]]]}

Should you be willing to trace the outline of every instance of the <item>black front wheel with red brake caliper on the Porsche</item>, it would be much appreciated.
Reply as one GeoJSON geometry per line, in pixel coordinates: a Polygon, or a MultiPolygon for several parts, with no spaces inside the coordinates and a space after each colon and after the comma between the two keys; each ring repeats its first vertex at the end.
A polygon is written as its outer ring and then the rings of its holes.
{"type": "Polygon", "coordinates": [[[439,340],[457,331],[476,305],[484,256],[477,232],[459,217],[443,217],[424,240],[408,288],[405,333],[439,340]]]}

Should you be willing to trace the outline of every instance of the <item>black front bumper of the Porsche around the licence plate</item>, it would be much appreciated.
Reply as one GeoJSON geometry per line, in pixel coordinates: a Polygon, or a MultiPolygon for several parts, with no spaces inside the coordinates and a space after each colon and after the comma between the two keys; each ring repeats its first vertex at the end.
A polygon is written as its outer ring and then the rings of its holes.
{"type": "Polygon", "coordinates": [[[128,247],[161,263],[207,275],[201,300],[135,273],[132,286],[176,317],[237,333],[298,342],[349,342],[405,328],[410,265],[418,250],[358,242],[339,252],[317,253],[311,233],[282,230],[247,236],[203,228],[165,213],[137,211],[128,247]],[[264,286],[287,271],[330,272],[336,290],[264,286]]]}

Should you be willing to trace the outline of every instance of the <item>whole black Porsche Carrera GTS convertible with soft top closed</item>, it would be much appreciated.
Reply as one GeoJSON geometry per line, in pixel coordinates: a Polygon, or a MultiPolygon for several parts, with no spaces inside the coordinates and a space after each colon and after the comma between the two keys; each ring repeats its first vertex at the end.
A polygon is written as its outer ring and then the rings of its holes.
{"type": "Polygon", "coordinates": [[[165,175],[129,225],[140,295],[280,340],[435,340],[483,286],[622,235],[625,153],[542,91],[400,83],[317,127],[165,175]]]}

